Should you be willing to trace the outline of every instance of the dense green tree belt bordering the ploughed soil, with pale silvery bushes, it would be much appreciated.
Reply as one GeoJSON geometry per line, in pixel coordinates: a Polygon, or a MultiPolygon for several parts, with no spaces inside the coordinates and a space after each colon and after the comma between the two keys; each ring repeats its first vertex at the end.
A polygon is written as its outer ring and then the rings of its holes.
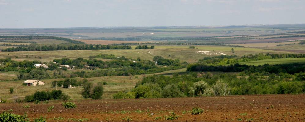
{"type": "Polygon", "coordinates": [[[265,77],[254,73],[239,78],[224,73],[153,75],[144,77],[130,91],[114,94],[113,99],[305,93],[304,81],[298,80],[304,75],[280,73],[278,77],[275,74],[265,77]]]}

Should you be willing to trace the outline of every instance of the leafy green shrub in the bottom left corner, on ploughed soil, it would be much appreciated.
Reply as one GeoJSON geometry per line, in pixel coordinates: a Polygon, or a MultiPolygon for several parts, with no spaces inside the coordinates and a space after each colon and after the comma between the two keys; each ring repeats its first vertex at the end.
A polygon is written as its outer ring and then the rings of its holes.
{"type": "Polygon", "coordinates": [[[29,120],[26,113],[20,116],[18,114],[3,112],[0,114],[0,122],[29,122],[29,120]]]}

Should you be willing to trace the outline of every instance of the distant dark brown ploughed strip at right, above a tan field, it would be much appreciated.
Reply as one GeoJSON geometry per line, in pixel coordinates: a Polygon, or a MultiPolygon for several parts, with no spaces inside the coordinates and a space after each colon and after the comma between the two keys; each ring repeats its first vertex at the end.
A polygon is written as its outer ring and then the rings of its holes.
{"type": "Polygon", "coordinates": [[[274,42],[285,42],[289,40],[304,39],[305,37],[291,37],[291,38],[272,38],[272,39],[251,39],[251,40],[236,40],[229,41],[229,43],[235,44],[249,44],[249,43],[274,43],[274,42]]]}

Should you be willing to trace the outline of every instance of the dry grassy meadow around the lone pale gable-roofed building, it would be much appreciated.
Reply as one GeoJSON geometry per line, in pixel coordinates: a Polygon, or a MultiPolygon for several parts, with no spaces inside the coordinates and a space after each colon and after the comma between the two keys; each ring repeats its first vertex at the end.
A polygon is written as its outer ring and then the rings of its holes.
{"type": "MultiPolygon", "coordinates": [[[[170,70],[170,71],[164,71],[161,73],[157,73],[157,75],[170,75],[173,73],[183,73],[186,72],[186,68],[182,68],[179,70],[170,70]]],[[[51,74],[51,72],[50,72],[51,74]]],[[[154,74],[148,74],[148,75],[154,75],[154,74]]],[[[147,75],[147,76],[148,76],[147,75]]],[[[98,83],[98,82],[107,82],[107,85],[104,85],[104,93],[103,93],[103,99],[111,99],[112,94],[116,93],[118,91],[127,91],[134,88],[136,83],[143,79],[144,75],[136,75],[136,76],[106,76],[106,77],[91,77],[87,78],[89,82],[92,83],[98,83]]],[[[11,81],[12,79],[16,78],[16,72],[0,72],[0,80],[7,79],[9,81],[1,81],[1,97],[13,100],[14,96],[19,96],[20,98],[24,98],[26,95],[32,95],[35,93],[35,91],[51,91],[55,90],[56,88],[51,87],[51,81],[54,80],[63,80],[63,79],[44,79],[41,80],[45,82],[45,85],[40,86],[23,86],[21,80],[17,81],[11,81]],[[2,77],[5,76],[5,77],[2,77]],[[9,88],[18,88],[18,92],[12,94],[9,94],[9,88]]],[[[77,77],[76,80],[82,81],[83,78],[77,77]]],[[[71,99],[73,100],[80,100],[84,99],[81,97],[80,93],[83,90],[83,87],[76,87],[76,88],[57,88],[58,90],[62,90],[64,93],[67,93],[69,96],[71,96],[71,99]]]]}

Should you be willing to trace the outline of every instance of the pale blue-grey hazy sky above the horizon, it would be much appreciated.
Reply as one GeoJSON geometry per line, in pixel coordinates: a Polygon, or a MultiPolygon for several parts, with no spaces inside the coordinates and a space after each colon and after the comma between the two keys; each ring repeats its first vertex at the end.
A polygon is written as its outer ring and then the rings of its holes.
{"type": "Polygon", "coordinates": [[[0,28],[305,23],[305,0],[0,0],[0,28]]]}

